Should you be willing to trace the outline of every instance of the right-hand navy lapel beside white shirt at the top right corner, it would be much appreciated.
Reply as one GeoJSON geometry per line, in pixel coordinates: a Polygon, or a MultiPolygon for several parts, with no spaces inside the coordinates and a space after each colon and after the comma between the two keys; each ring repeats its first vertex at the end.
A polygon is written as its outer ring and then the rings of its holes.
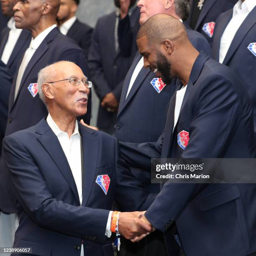
{"type": "Polygon", "coordinates": [[[241,45],[241,42],[243,41],[243,38],[246,36],[248,31],[250,31],[251,27],[254,26],[256,23],[256,7],[251,10],[251,12],[248,14],[246,19],[243,21],[241,24],[240,28],[238,28],[238,31],[236,32],[230,47],[228,49],[228,52],[225,56],[225,59],[223,61],[223,64],[226,65],[230,58],[233,56],[235,53],[236,49],[241,45]]]}

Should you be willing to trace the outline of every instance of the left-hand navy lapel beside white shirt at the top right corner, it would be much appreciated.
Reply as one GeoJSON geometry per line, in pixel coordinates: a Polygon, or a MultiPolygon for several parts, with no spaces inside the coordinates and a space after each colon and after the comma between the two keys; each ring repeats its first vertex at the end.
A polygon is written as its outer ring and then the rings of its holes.
{"type": "Polygon", "coordinates": [[[223,35],[223,32],[225,31],[226,26],[228,26],[228,23],[230,22],[233,15],[233,9],[229,10],[226,15],[224,15],[221,22],[218,23],[218,26],[216,26],[214,31],[214,41],[212,45],[212,54],[213,58],[217,61],[219,61],[220,58],[220,39],[223,35]],[[216,43],[215,43],[216,42],[216,43]]]}

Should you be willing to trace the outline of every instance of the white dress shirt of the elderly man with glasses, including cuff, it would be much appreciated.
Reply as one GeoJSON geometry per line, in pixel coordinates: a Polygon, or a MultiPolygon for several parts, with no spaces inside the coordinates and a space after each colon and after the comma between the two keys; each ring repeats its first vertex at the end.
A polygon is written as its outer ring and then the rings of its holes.
{"type": "MultiPolygon", "coordinates": [[[[64,151],[64,154],[69,163],[69,167],[71,169],[72,175],[74,177],[74,181],[77,186],[77,192],[79,195],[80,205],[82,205],[82,165],[81,165],[81,136],[78,131],[78,124],[76,121],[76,125],[74,128],[74,133],[69,138],[68,134],[64,131],[61,131],[58,125],[54,122],[51,115],[48,114],[46,121],[50,126],[51,130],[57,136],[61,148],[64,151]]],[[[109,212],[108,222],[106,226],[105,235],[110,237],[110,225],[111,225],[111,215],[112,211],[109,212]]],[[[81,251],[81,256],[83,255],[83,246],[81,251]]]]}

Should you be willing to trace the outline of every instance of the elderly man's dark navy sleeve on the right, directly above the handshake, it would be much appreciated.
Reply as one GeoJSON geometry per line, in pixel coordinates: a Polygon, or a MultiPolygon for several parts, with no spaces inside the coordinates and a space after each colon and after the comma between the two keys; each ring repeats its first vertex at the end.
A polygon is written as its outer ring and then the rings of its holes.
{"type": "Polygon", "coordinates": [[[120,210],[132,212],[147,210],[156,194],[149,194],[143,185],[133,176],[120,157],[118,141],[116,141],[116,180],[115,200],[120,210]]]}

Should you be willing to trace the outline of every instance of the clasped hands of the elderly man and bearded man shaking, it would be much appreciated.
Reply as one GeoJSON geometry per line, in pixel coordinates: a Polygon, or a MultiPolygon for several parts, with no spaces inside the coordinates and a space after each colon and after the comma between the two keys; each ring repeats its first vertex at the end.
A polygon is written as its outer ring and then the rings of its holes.
{"type": "Polygon", "coordinates": [[[146,219],[145,212],[121,212],[118,218],[120,235],[132,242],[138,242],[153,232],[155,228],[146,219]]]}

